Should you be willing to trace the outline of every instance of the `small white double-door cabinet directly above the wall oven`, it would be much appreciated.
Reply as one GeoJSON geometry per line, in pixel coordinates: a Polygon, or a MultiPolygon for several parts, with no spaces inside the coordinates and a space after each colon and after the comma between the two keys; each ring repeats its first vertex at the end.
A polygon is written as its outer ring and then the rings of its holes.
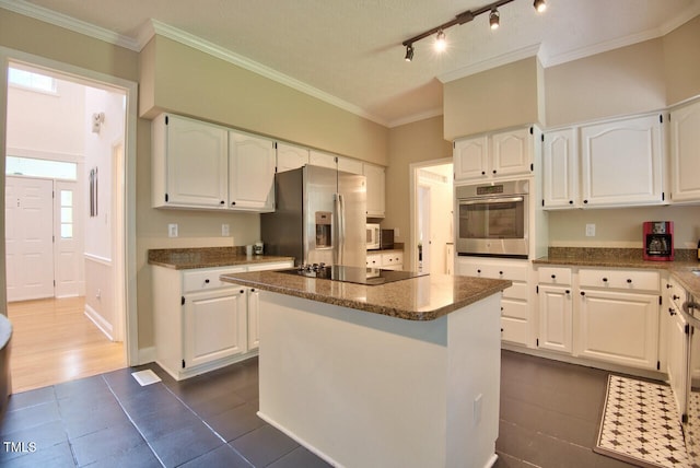
{"type": "Polygon", "coordinates": [[[530,175],[533,127],[457,140],[453,160],[456,180],[530,175]]]}

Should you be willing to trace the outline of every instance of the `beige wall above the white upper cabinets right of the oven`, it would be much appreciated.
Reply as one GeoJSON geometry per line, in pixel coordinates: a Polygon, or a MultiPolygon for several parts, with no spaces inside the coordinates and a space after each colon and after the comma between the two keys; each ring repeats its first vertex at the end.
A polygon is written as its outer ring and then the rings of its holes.
{"type": "Polygon", "coordinates": [[[548,128],[666,107],[661,39],[545,70],[548,128]]]}

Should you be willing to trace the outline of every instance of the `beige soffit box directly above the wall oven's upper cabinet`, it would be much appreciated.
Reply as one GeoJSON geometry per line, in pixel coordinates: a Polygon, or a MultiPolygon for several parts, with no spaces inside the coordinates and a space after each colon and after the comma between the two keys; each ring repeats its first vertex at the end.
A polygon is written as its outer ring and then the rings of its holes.
{"type": "Polygon", "coordinates": [[[445,140],[539,124],[540,68],[530,57],[445,83],[445,140]]]}

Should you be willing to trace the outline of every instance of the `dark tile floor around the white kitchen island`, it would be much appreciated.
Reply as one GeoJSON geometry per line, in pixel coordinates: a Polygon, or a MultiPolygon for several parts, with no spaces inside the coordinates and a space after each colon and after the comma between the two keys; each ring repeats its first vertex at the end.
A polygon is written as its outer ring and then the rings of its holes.
{"type": "MultiPolygon", "coordinates": [[[[158,365],[13,395],[0,424],[2,467],[328,465],[256,416],[257,360],[184,382],[158,365]]],[[[497,467],[626,467],[594,454],[607,373],[503,352],[497,467]]]]}

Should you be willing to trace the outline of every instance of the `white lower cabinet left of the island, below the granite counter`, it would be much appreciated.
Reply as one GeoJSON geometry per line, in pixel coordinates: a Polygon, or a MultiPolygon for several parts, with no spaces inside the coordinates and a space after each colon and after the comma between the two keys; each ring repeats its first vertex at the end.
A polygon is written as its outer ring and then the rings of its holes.
{"type": "Polygon", "coordinates": [[[154,266],[155,361],[179,381],[255,355],[258,291],[222,282],[219,277],[292,266],[292,261],[191,270],[154,266]]]}

